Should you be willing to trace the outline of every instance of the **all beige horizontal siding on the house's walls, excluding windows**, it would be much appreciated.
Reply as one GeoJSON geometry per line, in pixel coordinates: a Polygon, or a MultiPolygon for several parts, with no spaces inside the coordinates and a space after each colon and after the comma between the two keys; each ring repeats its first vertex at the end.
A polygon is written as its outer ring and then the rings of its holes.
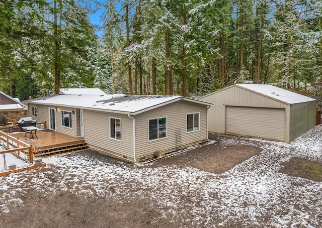
{"type": "MultiPolygon", "coordinates": [[[[31,106],[30,106],[31,107],[31,106]]],[[[79,109],[37,105],[40,115],[37,121],[47,121],[49,126],[49,107],[57,108],[56,131],[71,136],[79,136],[79,109]],[[61,126],[61,110],[72,111],[72,129],[61,126]]],[[[31,112],[31,110],[30,110],[31,112]]],[[[136,159],[153,156],[156,150],[165,152],[183,148],[207,140],[207,105],[180,100],[155,108],[135,116],[136,159]],[[200,113],[200,130],[187,133],[187,113],[200,113]],[[167,117],[167,138],[148,141],[148,119],[167,117]],[[181,140],[177,140],[180,136],[181,140]]],[[[94,149],[108,152],[112,155],[134,160],[133,119],[127,115],[110,113],[100,110],[84,109],[84,138],[94,149]],[[121,141],[110,139],[109,118],[121,119],[121,141]]]]}

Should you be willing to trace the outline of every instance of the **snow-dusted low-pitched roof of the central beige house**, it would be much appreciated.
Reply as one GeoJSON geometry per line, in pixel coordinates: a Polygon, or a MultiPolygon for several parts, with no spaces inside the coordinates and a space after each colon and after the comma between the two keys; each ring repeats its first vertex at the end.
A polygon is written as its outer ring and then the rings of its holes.
{"type": "Polygon", "coordinates": [[[152,95],[124,95],[124,94],[105,94],[105,95],[77,95],[77,94],[58,94],[53,96],[41,97],[28,100],[28,103],[59,105],[77,107],[85,109],[100,109],[110,112],[121,112],[130,115],[163,106],[178,100],[188,100],[204,105],[212,103],[195,100],[183,96],[152,96],[152,95]]]}

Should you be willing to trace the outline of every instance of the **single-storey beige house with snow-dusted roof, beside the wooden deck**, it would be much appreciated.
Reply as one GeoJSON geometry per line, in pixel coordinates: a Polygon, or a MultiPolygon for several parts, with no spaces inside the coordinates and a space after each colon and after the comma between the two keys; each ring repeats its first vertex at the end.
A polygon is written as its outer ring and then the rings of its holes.
{"type": "Polygon", "coordinates": [[[212,104],[183,96],[56,94],[27,100],[49,129],[84,138],[92,149],[140,161],[207,141],[212,104]]]}

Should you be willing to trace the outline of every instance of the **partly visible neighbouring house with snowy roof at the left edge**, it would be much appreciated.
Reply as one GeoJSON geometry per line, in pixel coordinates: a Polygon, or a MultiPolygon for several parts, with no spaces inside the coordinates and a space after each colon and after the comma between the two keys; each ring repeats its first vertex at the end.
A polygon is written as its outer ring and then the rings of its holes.
{"type": "Polygon", "coordinates": [[[13,98],[0,91],[0,126],[13,122],[16,116],[19,120],[26,109],[27,106],[21,103],[19,98],[13,98]]]}

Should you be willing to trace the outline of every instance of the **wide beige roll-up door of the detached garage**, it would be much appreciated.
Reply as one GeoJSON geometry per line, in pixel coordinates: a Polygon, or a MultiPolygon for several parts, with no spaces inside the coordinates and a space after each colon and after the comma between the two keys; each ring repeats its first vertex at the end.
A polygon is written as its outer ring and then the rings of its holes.
{"type": "Polygon", "coordinates": [[[285,140],[285,109],[226,106],[226,133],[285,140]]]}

